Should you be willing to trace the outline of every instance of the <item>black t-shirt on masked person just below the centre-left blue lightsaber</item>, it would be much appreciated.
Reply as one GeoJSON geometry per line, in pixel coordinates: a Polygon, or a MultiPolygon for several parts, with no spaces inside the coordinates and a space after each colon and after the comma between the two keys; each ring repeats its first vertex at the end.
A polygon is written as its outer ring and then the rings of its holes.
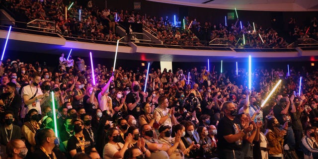
{"type": "MultiPolygon", "coordinates": [[[[136,98],[137,98],[137,93],[133,93],[133,92],[128,93],[126,97],[127,106],[128,106],[128,103],[135,103],[136,98]]],[[[128,114],[133,115],[136,119],[138,119],[139,116],[141,115],[141,111],[142,111],[141,101],[143,100],[144,95],[139,93],[139,98],[140,98],[140,101],[139,103],[137,103],[136,107],[133,110],[128,109],[128,114]]]]}

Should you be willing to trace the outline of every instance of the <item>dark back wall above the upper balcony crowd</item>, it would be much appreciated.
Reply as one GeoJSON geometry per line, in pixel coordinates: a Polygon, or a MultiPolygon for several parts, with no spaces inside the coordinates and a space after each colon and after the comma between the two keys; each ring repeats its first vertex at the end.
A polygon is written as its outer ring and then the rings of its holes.
{"type": "MultiPolygon", "coordinates": [[[[183,6],[168,3],[159,3],[147,0],[107,0],[107,7],[111,9],[124,9],[131,11],[133,10],[133,4],[135,2],[141,2],[141,10],[135,10],[140,14],[152,16],[169,16],[170,21],[173,21],[173,15],[179,16],[179,10],[187,8],[188,15],[192,20],[194,17],[198,21],[204,23],[205,21],[211,22],[212,24],[225,24],[224,16],[227,16],[228,12],[235,12],[234,9],[216,9],[216,8],[202,8],[194,6],[183,6]],[[182,8],[183,7],[183,8],[182,8]],[[185,7],[185,8],[184,8],[185,7]]],[[[105,0],[94,0],[97,6],[105,6],[105,0]]],[[[181,12],[180,12],[181,13],[181,12]]],[[[247,24],[247,21],[252,25],[252,22],[264,27],[272,27],[271,20],[276,18],[279,23],[279,27],[287,29],[288,21],[290,17],[296,18],[296,22],[301,26],[308,24],[314,16],[318,16],[317,11],[309,12],[277,12],[277,11],[249,11],[249,10],[238,10],[239,20],[242,21],[243,25],[247,24]]],[[[236,16],[236,15],[235,15],[236,16]]],[[[180,20],[183,18],[179,16],[180,20]]],[[[235,23],[235,20],[228,20],[228,25],[235,23]]]]}

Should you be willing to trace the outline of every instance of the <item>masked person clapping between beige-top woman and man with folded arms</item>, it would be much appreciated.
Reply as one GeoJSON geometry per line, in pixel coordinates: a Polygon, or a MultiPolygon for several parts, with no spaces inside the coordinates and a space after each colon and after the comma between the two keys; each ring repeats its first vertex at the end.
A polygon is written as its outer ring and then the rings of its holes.
{"type": "Polygon", "coordinates": [[[146,158],[150,158],[151,153],[145,147],[145,139],[140,137],[139,129],[135,126],[130,126],[125,133],[125,139],[129,134],[132,134],[133,136],[133,140],[131,141],[130,146],[139,148],[145,154],[146,158]]]}

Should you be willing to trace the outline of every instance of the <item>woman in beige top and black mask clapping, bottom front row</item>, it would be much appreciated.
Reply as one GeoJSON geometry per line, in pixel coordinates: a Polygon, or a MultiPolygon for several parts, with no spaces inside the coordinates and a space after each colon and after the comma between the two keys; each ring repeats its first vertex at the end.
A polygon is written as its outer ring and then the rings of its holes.
{"type": "Polygon", "coordinates": [[[108,143],[103,149],[103,159],[122,159],[125,151],[130,147],[133,135],[128,134],[125,143],[120,142],[120,134],[116,128],[110,128],[107,131],[108,143]]]}

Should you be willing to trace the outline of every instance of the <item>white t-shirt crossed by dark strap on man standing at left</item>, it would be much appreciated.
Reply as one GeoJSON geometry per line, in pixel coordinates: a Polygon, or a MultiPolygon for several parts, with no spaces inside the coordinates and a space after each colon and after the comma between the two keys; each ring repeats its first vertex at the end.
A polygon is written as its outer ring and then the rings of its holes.
{"type": "MultiPolygon", "coordinates": [[[[38,95],[43,94],[41,88],[39,88],[39,87],[31,87],[31,85],[26,85],[26,86],[24,86],[24,87],[22,88],[22,91],[21,91],[22,100],[23,100],[23,96],[24,96],[24,95],[26,95],[26,98],[27,98],[27,99],[30,99],[30,98],[35,94],[36,89],[38,89],[38,92],[37,92],[37,94],[35,95],[35,97],[38,96],[38,95]]],[[[34,98],[35,98],[35,97],[34,97],[34,98]]],[[[26,107],[26,113],[28,113],[29,110],[31,110],[31,109],[36,109],[39,114],[42,114],[40,102],[41,102],[41,99],[38,99],[38,100],[36,100],[35,102],[33,102],[33,103],[27,105],[27,107],[26,107]]]]}

